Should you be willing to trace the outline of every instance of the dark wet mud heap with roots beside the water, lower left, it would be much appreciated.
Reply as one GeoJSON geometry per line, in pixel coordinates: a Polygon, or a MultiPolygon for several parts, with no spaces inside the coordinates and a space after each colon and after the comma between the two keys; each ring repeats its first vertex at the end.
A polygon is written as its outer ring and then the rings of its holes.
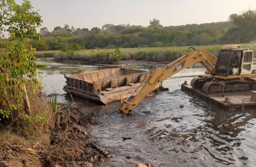
{"type": "Polygon", "coordinates": [[[71,105],[66,130],[54,130],[51,145],[55,148],[47,156],[45,166],[93,166],[111,157],[111,154],[93,141],[87,130],[95,122],[93,113],[83,113],[79,105],[71,105]]]}

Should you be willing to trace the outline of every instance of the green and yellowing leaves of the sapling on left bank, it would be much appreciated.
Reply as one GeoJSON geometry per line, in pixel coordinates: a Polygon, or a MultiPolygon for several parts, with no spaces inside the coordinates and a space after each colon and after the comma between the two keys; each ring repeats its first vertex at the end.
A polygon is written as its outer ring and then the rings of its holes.
{"type": "Polygon", "coordinates": [[[3,34],[11,34],[11,41],[6,41],[0,48],[0,116],[16,120],[20,117],[26,84],[42,89],[36,79],[36,69],[42,65],[36,64],[35,49],[29,42],[41,40],[36,28],[41,26],[41,16],[32,10],[29,1],[21,5],[14,0],[0,0],[0,42],[3,34]]]}

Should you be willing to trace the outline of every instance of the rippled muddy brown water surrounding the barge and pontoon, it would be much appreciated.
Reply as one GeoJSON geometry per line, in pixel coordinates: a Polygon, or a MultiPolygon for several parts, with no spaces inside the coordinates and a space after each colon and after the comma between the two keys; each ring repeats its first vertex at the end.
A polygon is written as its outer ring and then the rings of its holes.
{"type": "MultiPolygon", "coordinates": [[[[57,90],[59,103],[72,101],[62,90],[64,73],[109,68],[108,65],[59,63],[52,58],[39,58],[38,63],[48,65],[42,70],[41,82],[47,94],[53,88],[57,90]]],[[[125,67],[149,70],[157,66],[163,65],[125,67]]],[[[81,102],[84,112],[96,115],[96,124],[90,130],[94,140],[115,155],[97,166],[135,166],[139,162],[149,162],[153,167],[255,166],[256,109],[223,111],[180,90],[185,80],[190,82],[204,70],[195,64],[171,76],[163,82],[169,92],[144,99],[130,117],[118,114],[120,102],[104,106],[73,97],[81,102]],[[133,158],[126,159],[126,156],[133,158]]]]}

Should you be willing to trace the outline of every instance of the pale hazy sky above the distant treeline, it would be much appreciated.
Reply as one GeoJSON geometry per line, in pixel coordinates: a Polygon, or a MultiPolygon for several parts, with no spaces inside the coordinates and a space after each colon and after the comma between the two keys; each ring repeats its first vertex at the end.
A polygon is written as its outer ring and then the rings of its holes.
{"type": "MultiPolygon", "coordinates": [[[[50,31],[64,24],[102,28],[104,24],[163,26],[227,21],[230,14],[256,9],[256,0],[30,0],[50,31]]],[[[22,0],[16,0],[21,3],[22,0]]]]}

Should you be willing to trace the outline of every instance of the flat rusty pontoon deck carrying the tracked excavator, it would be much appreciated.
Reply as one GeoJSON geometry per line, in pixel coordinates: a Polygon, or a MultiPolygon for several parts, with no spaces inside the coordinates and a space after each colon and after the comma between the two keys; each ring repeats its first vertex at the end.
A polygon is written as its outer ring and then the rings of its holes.
{"type": "Polygon", "coordinates": [[[226,111],[243,110],[246,108],[256,109],[256,91],[207,94],[204,93],[202,89],[194,89],[190,84],[187,84],[186,81],[181,85],[181,90],[226,111]]]}

